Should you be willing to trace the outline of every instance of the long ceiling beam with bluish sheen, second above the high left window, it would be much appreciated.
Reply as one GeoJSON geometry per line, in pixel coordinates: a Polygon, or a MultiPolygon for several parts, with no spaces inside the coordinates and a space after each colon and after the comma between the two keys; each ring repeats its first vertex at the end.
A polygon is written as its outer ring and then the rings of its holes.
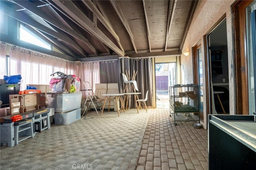
{"type": "Polygon", "coordinates": [[[96,55],[99,55],[98,51],[94,48],[94,46],[86,38],[84,38],[84,36],[82,36],[81,34],[78,34],[77,32],[75,32],[74,30],[68,28],[64,24],[61,24],[60,22],[58,22],[58,20],[55,20],[54,18],[48,16],[48,14],[43,12],[40,8],[35,6],[32,2],[24,1],[24,0],[13,0],[13,1],[16,4],[22,6],[23,8],[29,10],[30,12],[36,14],[40,18],[43,18],[44,20],[46,20],[50,24],[56,26],[60,30],[66,32],[70,36],[73,36],[74,38],[82,41],[83,43],[85,43],[93,51],[93,53],[95,53],[96,55]]]}

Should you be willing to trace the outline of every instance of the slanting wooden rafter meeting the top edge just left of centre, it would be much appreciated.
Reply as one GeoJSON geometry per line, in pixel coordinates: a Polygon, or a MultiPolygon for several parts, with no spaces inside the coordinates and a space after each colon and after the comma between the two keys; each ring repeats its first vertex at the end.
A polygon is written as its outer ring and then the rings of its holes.
{"type": "Polygon", "coordinates": [[[126,18],[124,17],[124,14],[122,12],[122,9],[120,7],[120,4],[117,0],[110,0],[112,6],[114,7],[118,17],[120,18],[120,20],[122,21],[126,31],[128,32],[129,36],[130,36],[130,39],[131,39],[131,42],[132,42],[132,45],[133,45],[133,48],[134,48],[134,51],[135,53],[137,53],[137,48],[136,48],[136,45],[135,45],[135,42],[134,42],[134,39],[133,39],[133,34],[132,34],[132,30],[130,29],[130,26],[128,24],[128,22],[126,21],[126,18]]]}

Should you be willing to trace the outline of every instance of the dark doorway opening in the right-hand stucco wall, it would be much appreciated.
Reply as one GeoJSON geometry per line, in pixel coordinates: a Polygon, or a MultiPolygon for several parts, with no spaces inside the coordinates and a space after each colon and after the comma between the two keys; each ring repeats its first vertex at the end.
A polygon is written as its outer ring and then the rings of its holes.
{"type": "Polygon", "coordinates": [[[212,114],[229,114],[228,46],[226,18],[206,36],[212,114]]]}

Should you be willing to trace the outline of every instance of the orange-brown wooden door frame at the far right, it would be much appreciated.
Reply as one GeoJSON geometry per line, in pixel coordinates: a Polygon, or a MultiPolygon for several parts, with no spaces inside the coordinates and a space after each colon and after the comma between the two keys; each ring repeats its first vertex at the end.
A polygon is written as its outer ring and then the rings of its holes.
{"type": "Polygon", "coordinates": [[[249,114],[247,41],[246,41],[246,7],[253,0],[239,0],[233,6],[234,23],[234,73],[236,84],[235,114],[249,114]],[[242,69],[241,69],[242,68],[242,69]]]}

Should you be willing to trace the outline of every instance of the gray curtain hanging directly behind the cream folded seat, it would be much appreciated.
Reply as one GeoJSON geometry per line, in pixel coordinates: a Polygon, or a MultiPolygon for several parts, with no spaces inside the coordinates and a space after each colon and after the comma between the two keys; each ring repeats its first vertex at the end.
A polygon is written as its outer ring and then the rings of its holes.
{"type": "Polygon", "coordinates": [[[100,83],[118,83],[119,61],[100,61],[100,83]]]}

